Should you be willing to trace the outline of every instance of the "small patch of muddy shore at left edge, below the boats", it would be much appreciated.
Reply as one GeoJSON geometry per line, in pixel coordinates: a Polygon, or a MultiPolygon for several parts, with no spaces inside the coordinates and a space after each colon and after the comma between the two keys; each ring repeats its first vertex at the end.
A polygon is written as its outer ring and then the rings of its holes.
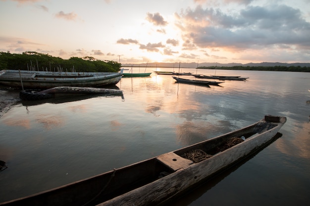
{"type": "Polygon", "coordinates": [[[0,117],[5,114],[12,105],[20,101],[20,89],[0,86],[0,117]]]}

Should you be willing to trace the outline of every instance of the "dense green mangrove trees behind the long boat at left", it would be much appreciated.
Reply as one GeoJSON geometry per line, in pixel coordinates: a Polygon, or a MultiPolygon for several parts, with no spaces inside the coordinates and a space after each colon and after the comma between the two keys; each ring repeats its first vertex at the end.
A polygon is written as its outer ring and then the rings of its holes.
{"type": "Polygon", "coordinates": [[[35,51],[26,51],[22,54],[0,52],[0,70],[36,70],[63,72],[118,72],[121,64],[115,61],[101,61],[94,57],[71,57],[62,59],[35,51]]]}

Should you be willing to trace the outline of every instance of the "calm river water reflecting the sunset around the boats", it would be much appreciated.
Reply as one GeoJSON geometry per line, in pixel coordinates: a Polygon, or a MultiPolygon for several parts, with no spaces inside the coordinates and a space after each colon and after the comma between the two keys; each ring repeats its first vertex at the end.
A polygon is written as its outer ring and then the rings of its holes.
{"type": "Polygon", "coordinates": [[[249,79],[206,87],[153,73],[122,78],[116,86],[123,95],[61,97],[13,106],[0,118],[0,160],[8,165],[0,172],[0,202],[152,158],[270,114],[287,117],[282,137],[169,205],[308,206],[310,73],[180,72],[249,79]]]}

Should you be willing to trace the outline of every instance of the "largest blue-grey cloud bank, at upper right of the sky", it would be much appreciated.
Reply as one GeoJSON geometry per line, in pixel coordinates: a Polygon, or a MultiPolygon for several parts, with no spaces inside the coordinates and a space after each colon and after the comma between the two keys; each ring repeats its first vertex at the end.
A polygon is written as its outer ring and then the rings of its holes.
{"type": "Polygon", "coordinates": [[[287,5],[248,6],[237,15],[197,6],[176,17],[176,26],[185,31],[186,49],[244,50],[275,45],[310,49],[310,23],[299,9],[287,5]]]}

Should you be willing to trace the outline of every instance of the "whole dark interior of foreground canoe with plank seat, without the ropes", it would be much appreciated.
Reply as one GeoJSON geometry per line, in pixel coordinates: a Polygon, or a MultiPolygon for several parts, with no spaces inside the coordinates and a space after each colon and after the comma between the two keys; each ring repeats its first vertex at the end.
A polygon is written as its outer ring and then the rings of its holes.
{"type": "Polygon", "coordinates": [[[220,148],[223,143],[232,137],[240,138],[243,136],[246,139],[251,139],[252,137],[277,125],[278,124],[275,122],[259,121],[256,124],[252,124],[242,129],[208,139],[204,142],[160,155],[156,158],[114,169],[112,171],[54,188],[39,194],[2,204],[0,203],[0,205],[97,205],[149,183],[155,182],[161,177],[177,172],[180,168],[186,169],[184,167],[190,167],[190,165],[194,163],[181,157],[188,151],[202,150],[208,155],[213,156],[221,152],[218,148],[220,148]],[[181,164],[178,165],[178,163],[181,164]]]}

